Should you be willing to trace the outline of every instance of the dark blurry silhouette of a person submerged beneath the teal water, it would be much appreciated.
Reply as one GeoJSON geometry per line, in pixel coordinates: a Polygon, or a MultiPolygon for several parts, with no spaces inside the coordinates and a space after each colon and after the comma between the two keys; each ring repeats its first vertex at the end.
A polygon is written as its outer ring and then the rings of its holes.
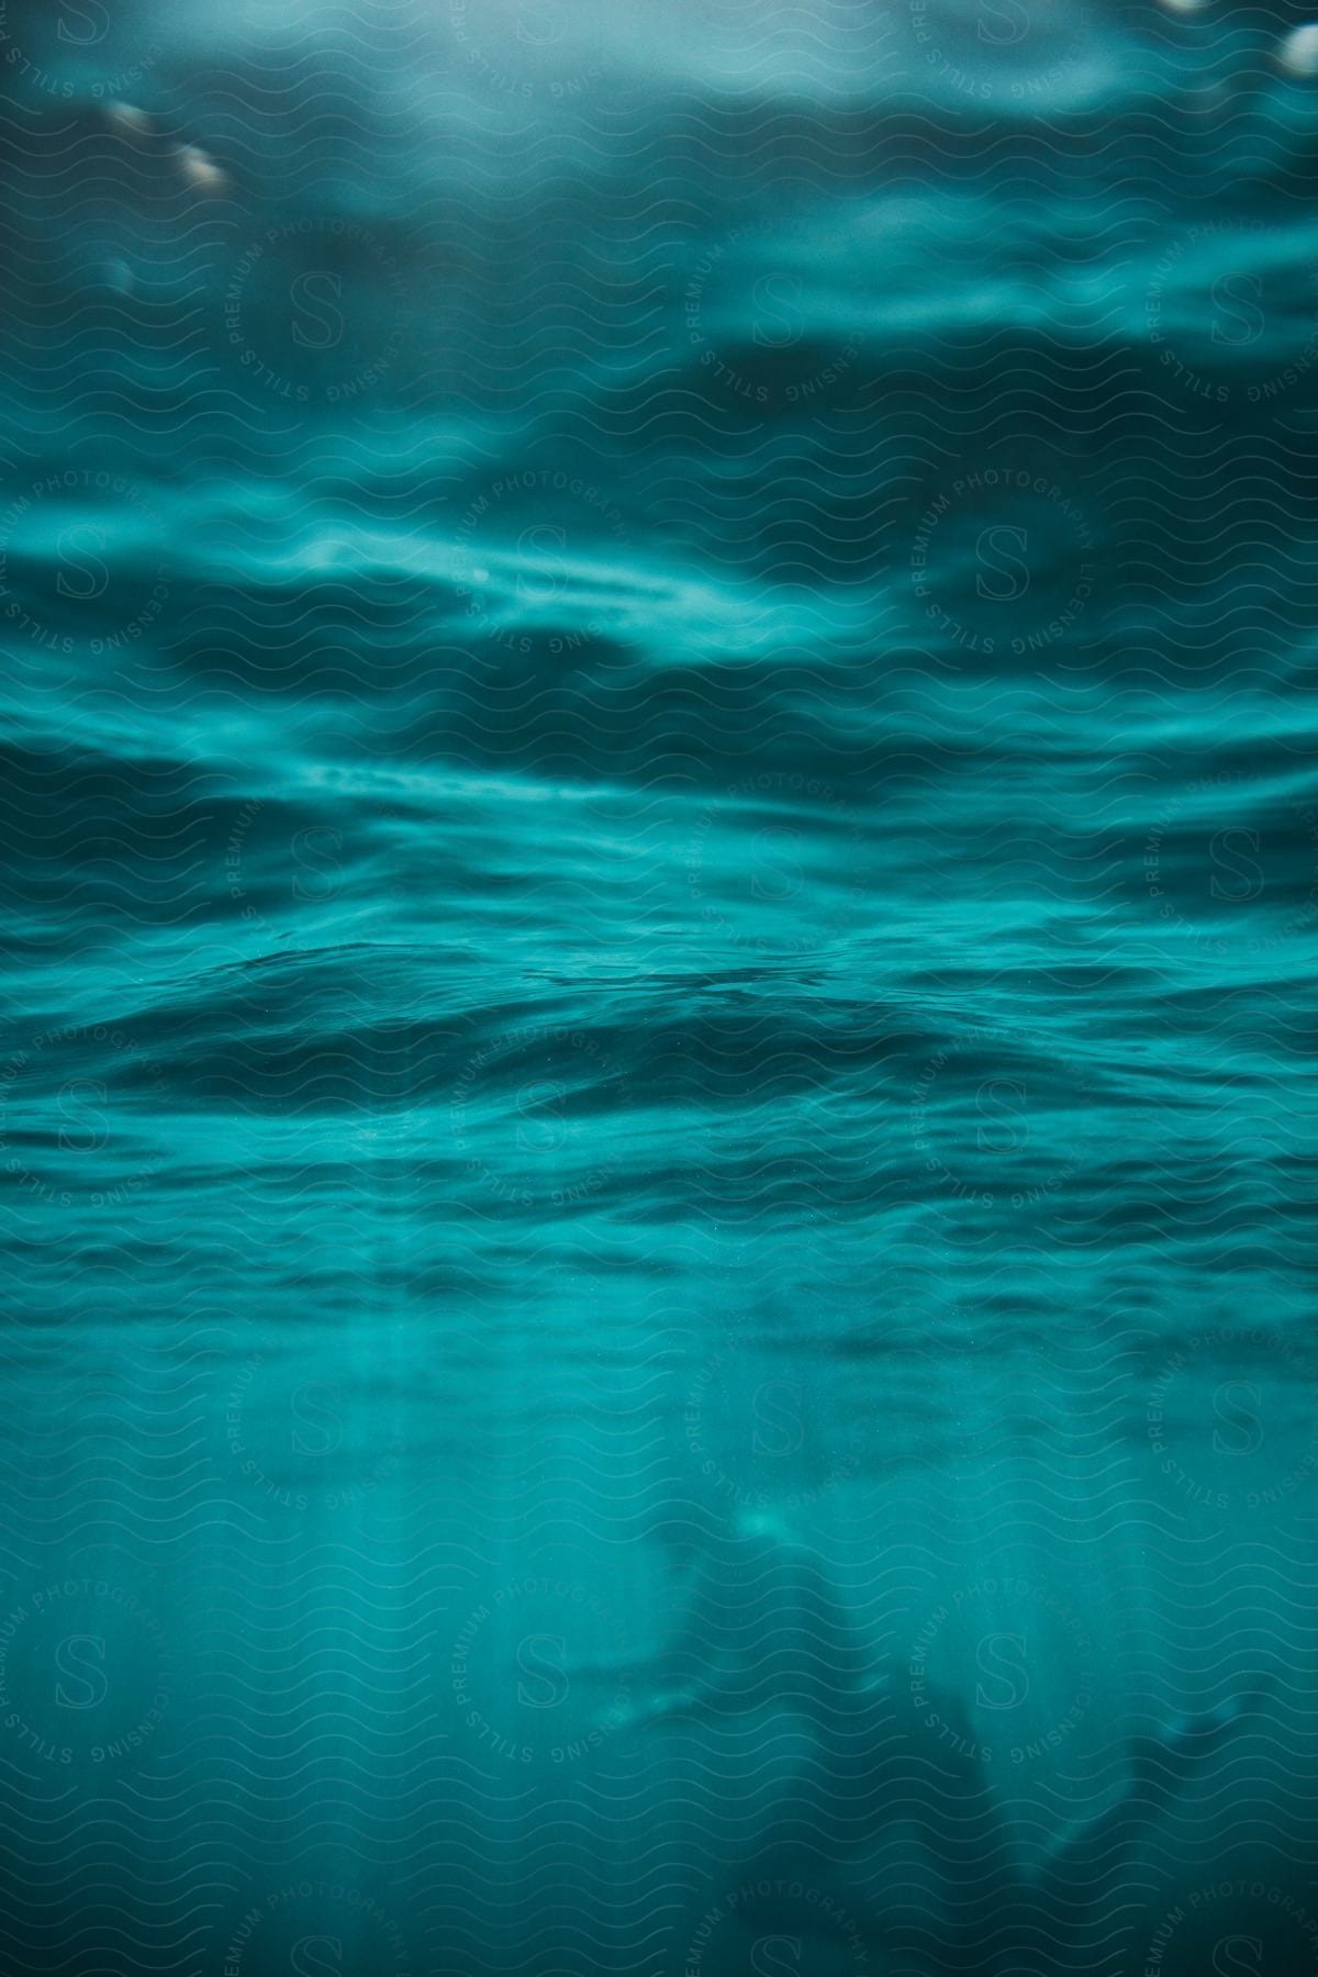
{"type": "MultiPolygon", "coordinates": [[[[901,1878],[911,1914],[923,1910],[913,1926],[929,1967],[960,1977],[1099,1967],[1095,1941],[1107,1935],[1111,1953],[1111,1912],[1142,1843],[1261,1696],[1136,1738],[1107,1803],[1022,1858],[966,1706],[927,1678],[915,1702],[899,1669],[875,1673],[824,1562],[773,1516],[743,1520],[701,1556],[652,1675],[630,1728],[701,1738],[705,1765],[707,1746],[717,1752],[725,1740],[731,1762],[715,1763],[715,1775],[729,1793],[747,1736],[761,1771],[765,1754],[775,1754],[759,1811],[749,1821],[729,1817],[723,1858],[713,1862],[743,1928],[790,1934],[800,1916],[784,1918],[777,1894],[808,1886],[810,1926],[828,1935],[838,1934],[838,1916],[848,1924],[860,1916],[862,1961],[875,1967],[873,1953],[881,1969],[899,1935],[881,1847],[897,1833],[915,1843],[901,1878]],[[911,1854],[923,1860],[925,1886],[911,1884],[911,1854]],[[814,1898],[822,1872],[846,1890],[836,1902],[814,1898]]],[[[836,1967],[856,1967],[856,1957],[848,1965],[838,1955],[836,1967]]]]}

